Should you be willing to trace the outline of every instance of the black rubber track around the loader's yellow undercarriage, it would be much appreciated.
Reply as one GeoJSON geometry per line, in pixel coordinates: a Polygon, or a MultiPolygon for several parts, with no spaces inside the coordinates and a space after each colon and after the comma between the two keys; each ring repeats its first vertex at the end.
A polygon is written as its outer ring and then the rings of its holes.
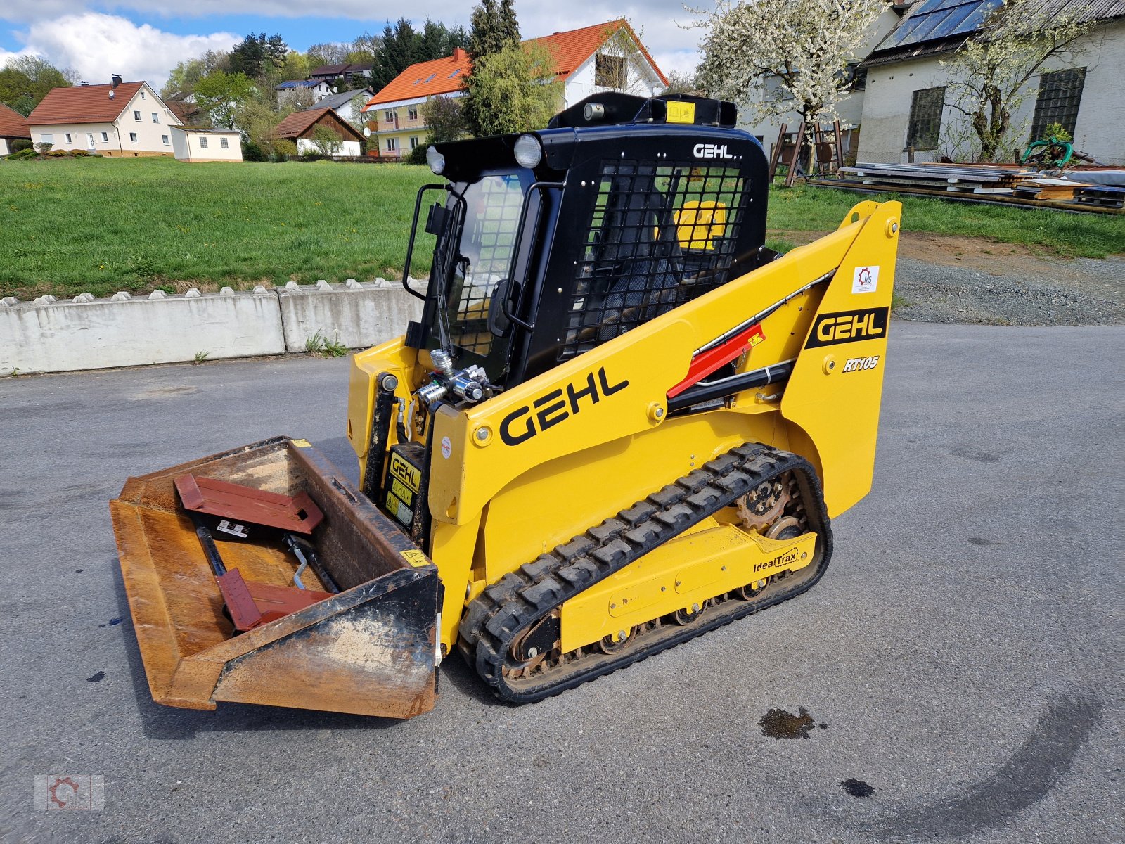
{"type": "MultiPolygon", "coordinates": [[[[532,703],[645,659],[708,630],[801,594],[824,575],[832,538],[824,494],[807,460],[788,451],[747,443],[622,510],[597,527],[526,563],[486,587],[461,619],[459,648],[492,691],[512,703],[532,703]],[[804,505],[808,529],[817,533],[813,560],[771,582],[753,601],[723,600],[688,627],[646,635],[612,655],[587,654],[531,677],[504,675],[512,643],[551,610],[619,572],[693,524],[731,505],[759,484],[792,472],[804,505]]],[[[724,593],[729,595],[730,593],[724,593]]]]}

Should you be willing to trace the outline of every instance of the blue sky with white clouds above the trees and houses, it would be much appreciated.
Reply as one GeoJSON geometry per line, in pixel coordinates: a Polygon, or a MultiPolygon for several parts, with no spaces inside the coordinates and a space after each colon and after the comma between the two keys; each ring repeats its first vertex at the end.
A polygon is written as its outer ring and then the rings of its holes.
{"type": "MultiPolygon", "coordinates": [[[[703,5],[709,5],[705,2],[703,5]]],[[[321,42],[350,42],[363,32],[380,33],[388,18],[408,10],[416,24],[426,16],[447,25],[468,25],[472,0],[0,0],[0,65],[14,55],[39,55],[70,66],[90,82],[111,73],[145,79],[156,88],[179,61],[207,50],[227,50],[248,33],[280,33],[295,50],[321,42]],[[170,8],[191,14],[166,15],[170,8]],[[317,10],[316,16],[305,12],[317,10]]],[[[549,35],[626,17],[665,73],[690,70],[698,61],[698,30],[684,30],[693,16],[681,0],[567,0],[565,7],[516,0],[524,37],[549,35]],[[565,8],[565,11],[562,9],[565,8]]]]}

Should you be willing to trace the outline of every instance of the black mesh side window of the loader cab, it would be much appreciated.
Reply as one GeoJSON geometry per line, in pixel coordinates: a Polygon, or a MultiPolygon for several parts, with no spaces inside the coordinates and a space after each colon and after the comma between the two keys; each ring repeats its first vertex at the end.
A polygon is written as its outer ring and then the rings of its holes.
{"type": "Polygon", "coordinates": [[[602,164],[579,237],[559,358],[593,349],[727,280],[745,214],[737,167],[602,164]]]}

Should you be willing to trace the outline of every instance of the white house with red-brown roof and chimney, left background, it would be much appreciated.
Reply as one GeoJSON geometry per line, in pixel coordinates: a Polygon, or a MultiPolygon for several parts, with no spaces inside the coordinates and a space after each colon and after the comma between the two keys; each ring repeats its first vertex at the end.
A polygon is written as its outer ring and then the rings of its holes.
{"type": "Polygon", "coordinates": [[[32,141],[112,158],[172,155],[179,119],[147,82],[52,88],[27,118],[32,141]]]}

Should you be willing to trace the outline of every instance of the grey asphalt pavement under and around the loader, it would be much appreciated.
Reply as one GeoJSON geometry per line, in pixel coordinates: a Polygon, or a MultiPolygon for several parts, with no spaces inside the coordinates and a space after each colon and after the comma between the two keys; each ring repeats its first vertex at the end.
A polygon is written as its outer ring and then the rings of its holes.
{"type": "Polygon", "coordinates": [[[153,703],[107,509],[277,433],[354,477],[346,360],[0,379],[0,839],[1122,841],[1123,350],[896,323],[811,592],[521,708],[453,656],[402,722],[153,703]],[[45,774],[105,808],[36,809],[45,774]]]}

